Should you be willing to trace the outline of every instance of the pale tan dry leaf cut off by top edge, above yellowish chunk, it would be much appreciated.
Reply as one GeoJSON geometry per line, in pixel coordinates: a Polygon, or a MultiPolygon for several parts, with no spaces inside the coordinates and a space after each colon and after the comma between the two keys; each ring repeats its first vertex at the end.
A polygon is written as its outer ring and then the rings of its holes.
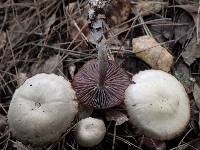
{"type": "Polygon", "coordinates": [[[167,6],[167,3],[163,0],[149,1],[149,0],[137,0],[133,4],[132,10],[139,12],[142,16],[158,13],[162,8],[167,6]]]}

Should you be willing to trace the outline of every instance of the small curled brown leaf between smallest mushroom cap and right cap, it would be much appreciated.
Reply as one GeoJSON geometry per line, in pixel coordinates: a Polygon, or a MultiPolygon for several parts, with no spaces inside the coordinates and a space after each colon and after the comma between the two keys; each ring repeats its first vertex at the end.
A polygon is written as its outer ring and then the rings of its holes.
{"type": "Polygon", "coordinates": [[[122,125],[128,121],[127,115],[118,110],[107,110],[105,115],[107,121],[115,121],[116,125],[122,125]]]}

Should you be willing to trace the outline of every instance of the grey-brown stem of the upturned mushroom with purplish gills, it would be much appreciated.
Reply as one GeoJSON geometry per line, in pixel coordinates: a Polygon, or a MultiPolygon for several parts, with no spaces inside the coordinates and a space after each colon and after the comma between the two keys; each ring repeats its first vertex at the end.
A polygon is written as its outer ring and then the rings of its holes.
{"type": "Polygon", "coordinates": [[[106,79],[106,73],[108,69],[108,58],[106,50],[99,50],[98,51],[98,61],[99,61],[99,87],[104,86],[104,82],[106,79]]]}

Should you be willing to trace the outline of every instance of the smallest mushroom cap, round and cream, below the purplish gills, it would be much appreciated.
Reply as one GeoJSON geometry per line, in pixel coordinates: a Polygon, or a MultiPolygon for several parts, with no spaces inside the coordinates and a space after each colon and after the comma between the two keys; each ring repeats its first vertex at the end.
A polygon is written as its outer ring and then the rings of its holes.
{"type": "Polygon", "coordinates": [[[74,133],[79,145],[93,147],[103,140],[106,127],[103,120],[89,117],[77,123],[74,133]]]}

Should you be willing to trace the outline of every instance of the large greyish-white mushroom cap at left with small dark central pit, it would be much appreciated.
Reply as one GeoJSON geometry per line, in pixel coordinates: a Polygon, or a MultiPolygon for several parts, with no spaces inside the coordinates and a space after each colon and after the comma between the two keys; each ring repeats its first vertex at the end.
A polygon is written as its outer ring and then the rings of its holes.
{"type": "Polygon", "coordinates": [[[8,123],[13,135],[32,145],[52,143],[70,127],[78,104],[69,81],[55,74],[37,74],[14,93],[8,123]]]}

